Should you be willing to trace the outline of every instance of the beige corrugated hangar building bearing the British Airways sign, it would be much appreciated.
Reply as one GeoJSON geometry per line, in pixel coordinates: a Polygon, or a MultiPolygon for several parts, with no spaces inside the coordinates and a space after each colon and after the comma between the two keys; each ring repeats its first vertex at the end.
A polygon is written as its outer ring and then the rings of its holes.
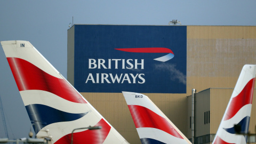
{"type": "Polygon", "coordinates": [[[68,81],[130,143],[140,139],[122,91],[147,95],[191,139],[196,89],[195,143],[211,143],[242,67],[256,64],[255,26],[73,25],[67,45],[68,81]]]}

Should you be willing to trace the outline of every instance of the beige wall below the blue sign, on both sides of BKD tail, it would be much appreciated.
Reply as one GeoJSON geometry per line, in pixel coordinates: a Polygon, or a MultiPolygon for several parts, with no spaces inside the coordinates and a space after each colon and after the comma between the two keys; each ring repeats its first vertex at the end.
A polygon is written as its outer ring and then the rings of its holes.
{"type": "MultiPolygon", "coordinates": [[[[122,93],[81,94],[128,142],[141,143],[122,93]]],[[[183,133],[186,133],[187,99],[184,94],[143,94],[147,95],[183,133]]]]}

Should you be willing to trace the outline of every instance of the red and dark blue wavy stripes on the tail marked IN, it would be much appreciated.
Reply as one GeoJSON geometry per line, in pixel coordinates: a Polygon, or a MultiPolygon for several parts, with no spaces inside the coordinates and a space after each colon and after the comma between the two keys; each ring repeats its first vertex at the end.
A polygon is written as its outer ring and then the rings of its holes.
{"type": "MultiPolygon", "coordinates": [[[[54,95],[58,95],[58,97],[70,102],[87,103],[83,98],[81,98],[81,95],[76,90],[74,90],[73,87],[69,85],[69,83],[65,79],[57,78],[50,74],[47,74],[43,70],[39,69],[38,67],[23,59],[7,58],[7,60],[9,62],[11,70],[13,71],[14,79],[17,82],[19,91],[46,91],[54,95]]],[[[43,127],[47,127],[47,125],[75,121],[89,113],[67,113],[65,111],[62,111],[61,108],[55,109],[49,107],[47,106],[47,103],[45,103],[45,105],[39,105],[35,103],[30,104],[26,106],[26,109],[31,123],[35,124],[34,129],[36,133],[42,130],[43,127]]],[[[101,121],[98,124],[100,124],[100,126],[103,126],[102,124],[104,124],[104,129],[100,130],[100,135],[102,135],[102,132],[104,134],[104,137],[100,137],[100,143],[103,143],[103,141],[107,137],[107,134],[110,131],[110,126],[105,122],[104,119],[101,119],[101,121]]],[[[97,131],[84,130],[82,132],[75,133],[75,141],[77,141],[77,143],[83,143],[84,138],[81,137],[81,134],[86,134],[94,138],[94,140],[88,139],[88,143],[98,143],[99,139],[95,139],[95,137],[98,137],[99,135],[97,135],[97,133],[95,132],[97,131]],[[80,140],[79,137],[81,137],[80,140]],[[90,140],[91,142],[89,142],[90,140]]],[[[67,142],[70,141],[70,136],[68,135],[67,137],[64,136],[61,139],[59,139],[57,143],[70,143],[67,142]]]]}

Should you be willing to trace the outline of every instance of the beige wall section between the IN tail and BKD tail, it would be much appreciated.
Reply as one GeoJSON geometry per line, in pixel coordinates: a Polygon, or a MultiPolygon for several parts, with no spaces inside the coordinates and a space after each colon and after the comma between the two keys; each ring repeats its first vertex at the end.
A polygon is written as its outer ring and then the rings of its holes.
{"type": "Polygon", "coordinates": [[[127,141],[140,142],[122,93],[82,93],[82,95],[127,141]]]}

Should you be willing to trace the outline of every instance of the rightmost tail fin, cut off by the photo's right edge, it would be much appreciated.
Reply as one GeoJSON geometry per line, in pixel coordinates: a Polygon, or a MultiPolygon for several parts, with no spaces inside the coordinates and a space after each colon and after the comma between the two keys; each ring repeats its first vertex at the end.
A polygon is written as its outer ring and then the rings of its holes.
{"type": "Polygon", "coordinates": [[[241,133],[248,132],[255,75],[256,65],[245,65],[243,67],[212,142],[213,144],[246,143],[247,137],[237,135],[234,125],[239,124],[241,126],[241,133]]]}

